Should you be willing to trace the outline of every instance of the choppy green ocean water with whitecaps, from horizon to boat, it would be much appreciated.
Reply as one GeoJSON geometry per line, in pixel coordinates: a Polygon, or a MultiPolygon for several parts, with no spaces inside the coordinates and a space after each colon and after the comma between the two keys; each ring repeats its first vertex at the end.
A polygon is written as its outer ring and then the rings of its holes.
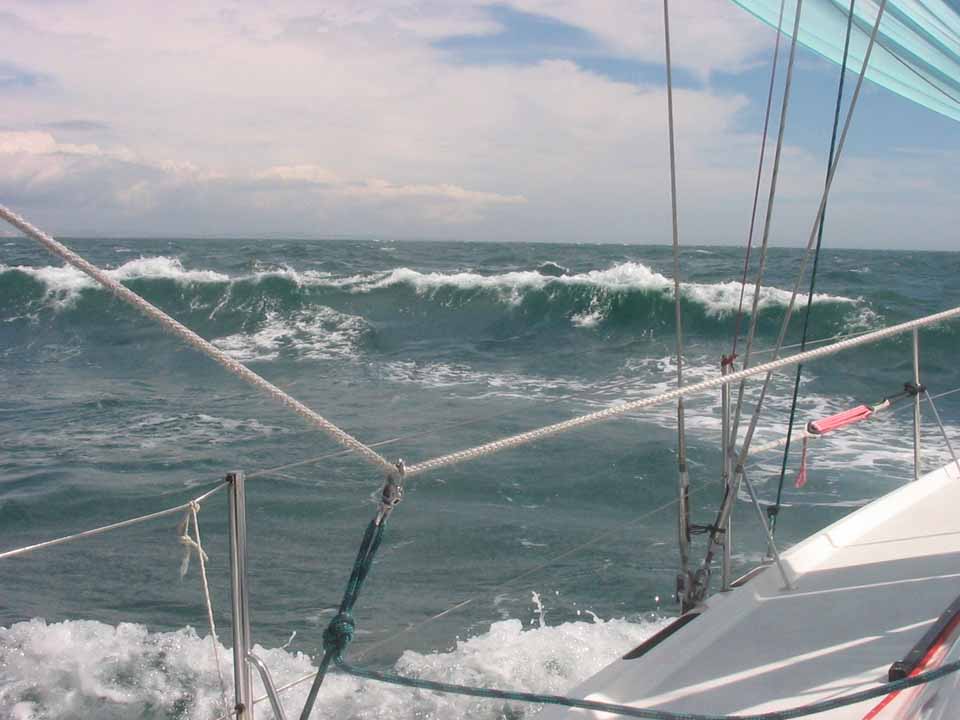
{"type": "MultiPolygon", "coordinates": [[[[668,247],[69,244],[391,459],[417,462],[675,382],[668,247]]],[[[799,259],[771,251],[758,360],[769,357],[799,259]]],[[[691,382],[718,373],[730,350],[742,262],[740,249],[683,252],[691,382]]],[[[960,254],[827,249],[811,337],[958,305],[957,277],[960,254]]],[[[958,340],[956,325],[921,333],[934,394],[960,387],[958,340]]],[[[817,362],[800,417],[878,401],[911,373],[909,337],[817,362]]],[[[0,387],[0,550],[180,504],[231,470],[259,473],[247,489],[253,634],[278,684],[309,674],[375,509],[376,473],[23,239],[0,243],[0,387]]],[[[757,442],[784,432],[791,387],[792,374],[776,377],[757,442]]],[[[960,438],[960,393],[938,407],[960,438]]],[[[901,406],[812,446],[802,490],[794,455],[779,541],[906,482],[911,417],[901,406]]],[[[948,455],[924,417],[933,469],[948,455]]],[[[562,693],[632,649],[677,611],[675,422],[661,406],[416,478],[358,604],[350,657],[562,693]]],[[[719,428],[719,395],[689,401],[696,522],[712,519],[720,495],[719,428]]],[[[779,462],[775,452],[752,460],[765,501],[779,462]]],[[[218,715],[196,559],[180,577],[180,519],[0,561],[0,718],[218,715]]],[[[744,498],[734,523],[746,571],[764,547],[744,498]]],[[[200,525],[229,685],[225,494],[204,503],[200,525]]],[[[300,684],[285,695],[289,714],[305,694],[300,684]]],[[[315,717],[536,711],[334,675],[315,717]]],[[[270,717],[265,703],[258,717],[270,717]]]]}

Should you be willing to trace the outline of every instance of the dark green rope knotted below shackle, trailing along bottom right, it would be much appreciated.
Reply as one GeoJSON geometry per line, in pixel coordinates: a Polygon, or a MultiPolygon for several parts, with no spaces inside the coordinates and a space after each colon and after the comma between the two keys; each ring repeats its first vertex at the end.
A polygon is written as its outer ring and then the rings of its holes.
{"type": "Polygon", "coordinates": [[[313,705],[316,702],[317,693],[320,691],[320,687],[323,684],[331,664],[335,664],[348,675],[389,683],[391,685],[400,685],[439,693],[466,695],[469,697],[512,700],[515,702],[543,705],[559,705],[562,707],[581,708],[583,710],[597,710],[599,712],[612,713],[623,717],[647,718],[648,720],[790,720],[791,718],[816,715],[848,705],[856,705],[865,700],[889,695],[890,693],[906,690],[907,688],[916,687],[917,685],[923,685],[960,670],[960,661],[956,661],[937,668],[936,670],[930,670],[929,672],[921,673],[913,677],[883,683],[868,690],[862,690],[808,705],[800,705],[787,710],[776,710],[756,715],[703,715],[671,712],[669,710],[654,710],[652,708],[638,708],[594,700],[581,700],[578,698],[564,697],[562,695],[544,695],[541,693],[456,685],[453,683],[423,680],[420,678],[396,675],[394,673],[355,667],[343,659],[344,653],[353,640],[356,628],[352,611],[360,595],[360,590],[363,588],[363,584],[370,572],[370,568],[373,566],[373,560],[376,557],[377,550],[380,549],[386,521],[387,515],[378,512],[377,516],[367,525],[367,529],[363,534],[363,540],[360,542],[360,549],[357,551],[357,558],[354,560],[353,571],[350,573],[350,579],[347,581],[347,589],[343,594],[343,600],[340,602],[337,614],[327,625],[326,630],[323,631],[323,658],[317,668],[317,674],[314,677],[313,685],[310,687],[310,693],[307,696],[307,702],[303,707],[300,720],[308,720],[310,717],[313,705]]]}

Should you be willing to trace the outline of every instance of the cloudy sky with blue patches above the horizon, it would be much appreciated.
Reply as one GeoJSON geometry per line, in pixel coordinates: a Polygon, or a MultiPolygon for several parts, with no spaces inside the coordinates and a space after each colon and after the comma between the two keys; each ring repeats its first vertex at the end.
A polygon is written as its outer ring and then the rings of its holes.
{"type": "MultiPolygon", "coordinates": [[[[671,33],[681,243],[742,245],[775,33],[729,0],[671,33]]],[[[0,203],[66,236],[666,243],[663,57],[660,0],[0,0],[0,203]]],[[[798,55],[774,245],[810,233],[837,78],[798,55]]],[[[956,249],[957,128],[868,84],[825,243],[956,249]]]]}

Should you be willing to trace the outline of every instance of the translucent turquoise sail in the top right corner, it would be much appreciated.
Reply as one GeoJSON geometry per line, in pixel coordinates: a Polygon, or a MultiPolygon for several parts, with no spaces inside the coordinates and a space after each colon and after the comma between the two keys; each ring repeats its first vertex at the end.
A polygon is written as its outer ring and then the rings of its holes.
{"type": "MultiPolygon", "coordinates": [[[[781,0],[733,0],[777,26],[781,0]]],[[[785,0],[783,31],[793,31],[797,0],[785,0]]],[[[798,42],[840,63],[849,0],[804,0],[798,42]]],[[[856,0],[847,67],[859,72],[877,19],[878,0],[856,0]]],[[[960,120],[960,0],[887,0],[867,79],[960,120]]]]}

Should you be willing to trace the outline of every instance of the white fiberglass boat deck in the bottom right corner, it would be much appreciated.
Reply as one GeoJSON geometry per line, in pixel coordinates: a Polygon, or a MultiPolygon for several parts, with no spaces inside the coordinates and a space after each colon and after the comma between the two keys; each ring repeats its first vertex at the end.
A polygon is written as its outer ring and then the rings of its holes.
{"type": "MultiPolygon", "coordinates": [[[[960,473],[932,472],[870,503],[717,594],[646,654],[617,660],[571,693],[694,713],[781,710],[884,682],[960,595],[960,473]]],[[[952,677],[942,681],[953,686],[952,677]]],[[[863,718],[880,699],[816,718],[863,718]]],[[[609,718],[547,709],[546,718],[609,718]]],[[[886,718],[881,714],[878,718],[886,718]]]]}

